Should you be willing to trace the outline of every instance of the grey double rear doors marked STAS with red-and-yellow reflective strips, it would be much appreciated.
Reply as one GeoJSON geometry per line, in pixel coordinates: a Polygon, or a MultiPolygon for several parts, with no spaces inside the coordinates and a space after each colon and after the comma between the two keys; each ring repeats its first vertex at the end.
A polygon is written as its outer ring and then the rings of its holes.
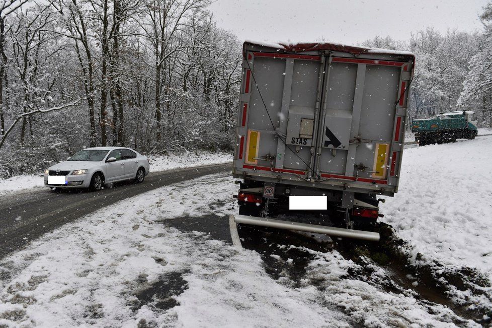
{"type": "Polygon", "coordinates": [[[412,60],[246,44],[234,172],[396,192],[412,60]]]}

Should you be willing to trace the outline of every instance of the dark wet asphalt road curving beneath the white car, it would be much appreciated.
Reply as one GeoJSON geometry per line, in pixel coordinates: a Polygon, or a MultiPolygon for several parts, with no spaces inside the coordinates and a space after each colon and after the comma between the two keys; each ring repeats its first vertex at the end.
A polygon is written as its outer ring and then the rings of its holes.
{"type": "Polygon", "coordinates": [[[232,171],[232,163],[150,172],[143,183],[120,182],[98,192],[46,188],[3,196],[0,199],[0,258],[46,232],[105,206],[172,183],[228,170],[232,171]]]}

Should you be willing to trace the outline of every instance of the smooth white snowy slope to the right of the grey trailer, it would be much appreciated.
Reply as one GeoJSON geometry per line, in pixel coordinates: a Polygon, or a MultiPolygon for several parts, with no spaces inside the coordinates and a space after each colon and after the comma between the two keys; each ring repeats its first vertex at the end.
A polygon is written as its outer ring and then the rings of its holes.
{"type": "MultiPolygon", "coordinates": [[[[492,136],[406,149],[399,185],[381,206],[382,221],[407,241],[414,263],[436,275],[467,267],[491,282],[492,136]]],[[[492,289],[474,287],[482,292],[476,298],[471,290],[451,293],[492,307],[492,289]]]]}

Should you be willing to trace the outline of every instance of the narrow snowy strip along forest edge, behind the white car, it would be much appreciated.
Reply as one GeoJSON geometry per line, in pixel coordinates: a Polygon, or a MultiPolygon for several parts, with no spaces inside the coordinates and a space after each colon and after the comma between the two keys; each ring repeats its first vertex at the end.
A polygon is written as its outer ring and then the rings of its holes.
{"type": "MultiPolygon", "coordinates": [[[[150,172],[184,168],[191,166],[232,162],[231,153],[212,153],[207,151],[183,152],[180,154],[149,156],[150,172]]],[[[0,195],[24,189],[44,187],[42,175],[19,175],[0,179],[0,195]]]]}

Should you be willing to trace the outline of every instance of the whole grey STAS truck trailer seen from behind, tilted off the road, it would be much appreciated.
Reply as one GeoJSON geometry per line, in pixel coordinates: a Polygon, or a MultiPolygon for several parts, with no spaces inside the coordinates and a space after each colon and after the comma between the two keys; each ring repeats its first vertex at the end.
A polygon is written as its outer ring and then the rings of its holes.
{"type": "Polygon", "coordinates": [[[407,51],[244,42],[233,221],[379,240],[353,223],[376,222],[377,195],[398,191],[414,63],[407,51]],[[343,223],[279,219],[299,211],[343,223]]]}

